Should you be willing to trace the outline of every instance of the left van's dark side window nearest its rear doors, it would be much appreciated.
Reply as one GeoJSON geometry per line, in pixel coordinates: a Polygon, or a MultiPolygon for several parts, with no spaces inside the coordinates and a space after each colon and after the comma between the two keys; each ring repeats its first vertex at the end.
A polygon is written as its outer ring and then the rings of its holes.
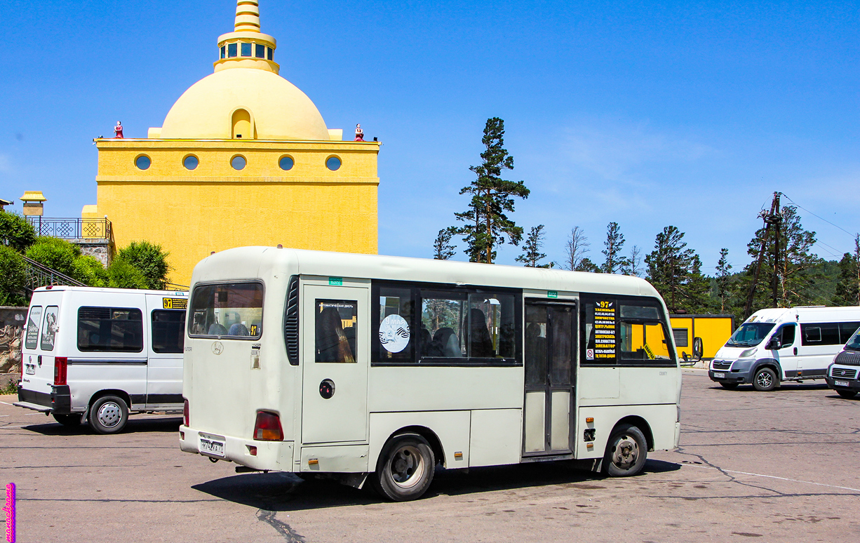
{"type": "Polygon", "coordinates": [[[144,316],[136,307],[81,307],[77,349],[139,353],[144,349],[144,316]]]}

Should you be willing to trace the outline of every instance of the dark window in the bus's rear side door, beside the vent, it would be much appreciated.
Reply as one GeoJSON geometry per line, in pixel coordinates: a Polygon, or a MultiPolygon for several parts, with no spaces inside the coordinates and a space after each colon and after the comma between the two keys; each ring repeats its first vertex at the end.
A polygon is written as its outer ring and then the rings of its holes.
{"type": "Polygon", "coordinates": [[[316,361],[355,362],[358,301],[316,299],[316,361]]]}

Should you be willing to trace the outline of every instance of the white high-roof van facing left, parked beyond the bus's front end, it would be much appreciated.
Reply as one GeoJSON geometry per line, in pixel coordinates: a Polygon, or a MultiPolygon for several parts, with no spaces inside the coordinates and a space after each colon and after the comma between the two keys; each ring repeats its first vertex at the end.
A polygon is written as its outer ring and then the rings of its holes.
{"type": "Polygon", "coordinates": [[[753,313],[717,351],[708,375],[724,388],[825,379],[833,355],[860,327],[860,307],[791,307],[753,313]]]}

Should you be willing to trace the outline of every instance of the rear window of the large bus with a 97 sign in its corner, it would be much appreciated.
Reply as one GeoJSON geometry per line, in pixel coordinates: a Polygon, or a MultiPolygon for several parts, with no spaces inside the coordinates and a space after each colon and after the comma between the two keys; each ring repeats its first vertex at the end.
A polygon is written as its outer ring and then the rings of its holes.
{"type": "Polygon", "coordinates": [[[262,334],[262,323],[262,283],[219,283],[194,287],[189,336],[258,339],[262,334]]]}

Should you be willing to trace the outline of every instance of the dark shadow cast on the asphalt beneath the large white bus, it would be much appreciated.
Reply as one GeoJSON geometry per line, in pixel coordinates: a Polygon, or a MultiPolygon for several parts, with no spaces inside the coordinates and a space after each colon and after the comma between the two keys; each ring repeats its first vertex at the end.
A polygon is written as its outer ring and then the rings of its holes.
{"type": "MultiPolygon", "coordinates": [[[[648,460],[639,477],[649,473],[673,472],[681,466],[662,460],[648,460]]],[[[446,470],[437,466],[433,484],[425,497],[464,496],[488,491],[509,491],[526,487],[561,484],[571,491],[607,488],[606,478],[577,469],[566,462],[537,462],[513,466],[491,466],[469,470],[446,470]]],[[[382,503],[369,484],[358,490],[334,480],[299,478],[292,473],[255,472],[213,479],[191,488],[233,503],[267,511],[300,511],[347,505],[382,503]]]]}

